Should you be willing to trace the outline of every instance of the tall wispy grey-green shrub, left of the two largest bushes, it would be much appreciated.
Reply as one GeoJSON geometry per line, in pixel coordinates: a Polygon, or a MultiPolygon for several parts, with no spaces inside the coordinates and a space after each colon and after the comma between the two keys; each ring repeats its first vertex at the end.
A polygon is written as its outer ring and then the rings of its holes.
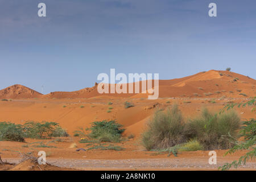
{"type": "Polygon", "coordinates": [[[177,105],[166,112],[156,111],[142,134],[142,144],[147,150],[170,148],[186,142],[185,122],[177,105]]]}

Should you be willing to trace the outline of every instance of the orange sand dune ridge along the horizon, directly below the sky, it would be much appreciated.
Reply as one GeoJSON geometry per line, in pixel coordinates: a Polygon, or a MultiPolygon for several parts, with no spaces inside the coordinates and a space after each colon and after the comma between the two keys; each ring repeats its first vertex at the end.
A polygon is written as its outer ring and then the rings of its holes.
{"type": "MultiPolygon", "coordinates": [[[[135,83],[134,90],[135,90],[135,83]]],[[[152,81],[154,86],[154,80],[152,81]]],[[[256,80],[234,72],[214,71],[200,72],[192,76],[172,80],[159,80],[159,97],[209,97],[218,96],[253,97],[256,80]],[[209,94],[210,93],[210,94],[209,94]],[[246,95],[246,96],[245,96],[246,95]]],[[[112,96],[125,98],[147,98],[141,93],[142,81],[139,82],[140,93],[104,93],[100,94],[96,83],[92,88],[84,88],[74,92],[51,92],[42,95],[35,90],[22,85],[14,85],[0,90],[0,98],[92,98],[97,96],[112,96]]],[[[110,85],[109,85],[110,88],[110,85]]],[[[128,90],[129,86],[127,86],[128,90]]],[[[110,89],[109,89],[110,90],[110,89]]]]}

